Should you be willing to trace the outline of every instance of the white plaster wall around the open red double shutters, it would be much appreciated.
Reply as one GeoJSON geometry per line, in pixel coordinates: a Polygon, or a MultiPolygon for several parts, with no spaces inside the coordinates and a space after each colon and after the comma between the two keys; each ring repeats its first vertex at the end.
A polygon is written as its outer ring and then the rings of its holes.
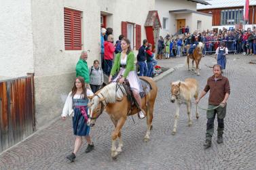
{"type": "Polygon", "coordinates": [[[155,1],[98,0],[98,4],[100,5],[100,11],[112,14],[111,16],[107,16],[107,18],[109,18],[109,20],[107,20],[107,27],[113,28],[113,36],[115,41],[118,39],[119,35],[121,35],[122,21],[134,23],[134,53],[136,54],[135,24],[141,25],[141,41],[143,41],[143,39],[146,39],[144,24],[149,11],[154,9],[155,1]]]}

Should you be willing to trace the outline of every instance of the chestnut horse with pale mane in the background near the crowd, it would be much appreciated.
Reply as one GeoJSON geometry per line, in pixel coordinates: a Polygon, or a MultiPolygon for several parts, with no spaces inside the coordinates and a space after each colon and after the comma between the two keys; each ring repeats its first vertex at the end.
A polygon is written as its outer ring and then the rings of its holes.
{"type": "MultiPolygon", "coordinates": [[[[202,58],[202,50],[204,49],[204,44],[199,42],[198,45],[196,46],[196,49],[193,51],[193,54],[189,54],[190,45],[187,45],[187,66],[188,66],[188,70],[189,70],[189,58],[192,59],[192,64],[194,66],[194,61],[196,62],[196,70],[195,73],[199,76],[199,64],[200,64],[200,60],[202,58]]],[[[193,67],[192,66],[192,67],[193,67]]]]}

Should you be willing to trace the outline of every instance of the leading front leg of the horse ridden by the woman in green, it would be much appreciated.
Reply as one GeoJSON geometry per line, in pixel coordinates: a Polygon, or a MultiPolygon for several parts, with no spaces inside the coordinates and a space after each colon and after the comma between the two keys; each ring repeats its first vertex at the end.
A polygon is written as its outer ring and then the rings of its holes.
{"type": "MultiPolygon", "coordinates": [[[[121,117],[118,121],[117,121],[117,125],[115,127],[115,130],[112,133],[112,147],[111,147],[111,156],[113,159],[115,159],[118,155],[117,149],[115,147],[115,141],[117,140],[117,137],[124,125],[124,123],[126,122],[126,118],[121,117]]],[[[120,135],[121,136],[121,135],[120,135]]]]}

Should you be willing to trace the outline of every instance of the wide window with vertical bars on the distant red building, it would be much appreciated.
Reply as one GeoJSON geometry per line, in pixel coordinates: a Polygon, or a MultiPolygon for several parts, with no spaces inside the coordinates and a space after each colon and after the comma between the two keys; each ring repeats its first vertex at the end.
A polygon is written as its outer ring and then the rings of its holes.
{"type": "Polygon", "coordinates": [[[243,9],[228,9],[221,11],[221,25],[234,25],[243,22],[243,9]]]}

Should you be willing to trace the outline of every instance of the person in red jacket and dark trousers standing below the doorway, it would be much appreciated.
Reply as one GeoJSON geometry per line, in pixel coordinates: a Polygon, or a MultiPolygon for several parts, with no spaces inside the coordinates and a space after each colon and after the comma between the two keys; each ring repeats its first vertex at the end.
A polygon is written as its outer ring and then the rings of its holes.
{"type": "Polygon", "coordinates": [[[113,35],[107,37],[107,41],[104,42],[104,60],[105,60],[105,73],[109,76],[114,58],[115,47],[113,45],[113,35]]]}

